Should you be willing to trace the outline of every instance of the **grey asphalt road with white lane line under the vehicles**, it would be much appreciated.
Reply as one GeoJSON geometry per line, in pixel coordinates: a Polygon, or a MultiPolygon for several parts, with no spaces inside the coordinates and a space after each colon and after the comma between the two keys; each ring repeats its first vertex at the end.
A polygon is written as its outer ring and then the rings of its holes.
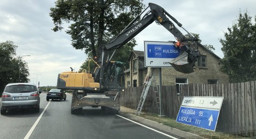
{"type": "Polygon", "coordinates": [[[12,110],[0,115],[0,139],[170,139],[118,115],[105,114],[100,107],[84,107],[82,114],[73,115],[69,95],[66,101],[46,101],[46,94],[40,99],[40,113],[12,110]]]}

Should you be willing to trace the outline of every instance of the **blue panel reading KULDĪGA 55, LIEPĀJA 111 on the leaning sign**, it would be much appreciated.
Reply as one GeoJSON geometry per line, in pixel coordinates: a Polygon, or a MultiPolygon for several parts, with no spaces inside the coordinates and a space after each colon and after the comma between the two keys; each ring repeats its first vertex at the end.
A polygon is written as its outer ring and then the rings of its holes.
{"type": "Polygon", "coordinates": [[[220,110],[181,107],[176,122],[215,131],[220,110]]]}

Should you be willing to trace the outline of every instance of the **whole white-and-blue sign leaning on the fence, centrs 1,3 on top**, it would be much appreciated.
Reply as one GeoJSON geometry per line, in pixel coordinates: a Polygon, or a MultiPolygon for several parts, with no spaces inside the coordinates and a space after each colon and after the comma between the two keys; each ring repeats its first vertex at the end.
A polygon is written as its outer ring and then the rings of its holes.
{"type": "Polygon", "coordinates": [[[176,122],[215,131],[223,98],[184,96],[176,122]]]}

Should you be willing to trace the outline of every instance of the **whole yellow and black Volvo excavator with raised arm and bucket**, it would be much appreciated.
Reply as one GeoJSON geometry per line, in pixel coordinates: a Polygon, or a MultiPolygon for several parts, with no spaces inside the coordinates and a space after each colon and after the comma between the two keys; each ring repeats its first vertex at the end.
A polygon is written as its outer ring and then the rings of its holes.
{"type": "MultiPolygon", "coordinates": [[[[180,44],[184,44],[180,47],[180,55],[170,61],[172,67],[182,73],[194,72],[193,64],[196,59],[200,57],[200,52],[197,49],[197,38],[189,32],[190,38],[185,38],[172,21],[179,27],[182,27],[182,24],[161,6],[149,3],[148,7],[136,16],[119,35],[112,38],[107,44],[103,44],[99,47],[98,55],[100,56],[95,56],[93,59],[95,66],[92,73],[83,70],[81,73],[70,71],[58,75],[57,88],[74,90],[71,114],[81,113],[82,107],[86,106],[101,107],[102,110],[108,113],[118,113],[120,110],[120,91],[125,87],[124,63],[111,61],[111,59],[117,49],[134,38],[154,21],[174,35],[180,44]],[[144,13],[148,7],[150,10],[141,17],[142,13],[144,13]],[[172,21],[170,21],[167,16],[172,21]],[[108,94],[108,91],[111,90],[116,90],[117,93],[115,95],[108,94]]],[[[182,29],[184,28],[182,27],[182,29]]]]}

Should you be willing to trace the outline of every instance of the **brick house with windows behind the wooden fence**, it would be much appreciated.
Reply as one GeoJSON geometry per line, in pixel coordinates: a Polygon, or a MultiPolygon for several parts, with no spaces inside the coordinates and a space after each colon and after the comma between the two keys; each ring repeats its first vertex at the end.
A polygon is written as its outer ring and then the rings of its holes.
{"type": "MultiPolygon", "coordinates": [[[[229,76],[220,71],[221,58],[203,45],[199,45],[199,51],[202,57],[195,62],[195,72],[183,74],[173,67],[164,67],[162,68],[162,85],[229,83],[229,76]]],[[[144,67],[144,51],[132,51],[129,61],[130,68],[126,70],[126,87],[142,86],[147,75],[147,67],[144,67]]],[[[153,68],[157,83],[159,83],[159,69],[153,68]]]]}

